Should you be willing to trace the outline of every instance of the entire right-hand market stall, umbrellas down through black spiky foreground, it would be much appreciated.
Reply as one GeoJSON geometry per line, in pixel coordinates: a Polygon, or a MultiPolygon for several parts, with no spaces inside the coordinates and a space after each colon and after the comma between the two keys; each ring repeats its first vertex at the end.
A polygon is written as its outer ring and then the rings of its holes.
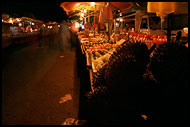
{"type": "Polygon", "coordinates": [[[188,40],[181,38],[188,37],[188,26],[172,31],[178,22],[171,24],[171,15],[185,14],[181,17],[188,24],[186,2],[147,2],[146,7],[137,2],[63,2],[60,6],[68,15],[78,15],[80,22],[74,23],[79,31],[77,61],[79,75],[89,71],[83,77],[90,78],[89,122],[184,120],[174,114],[185,117],[181,110],[187,95],[188,40]]]}

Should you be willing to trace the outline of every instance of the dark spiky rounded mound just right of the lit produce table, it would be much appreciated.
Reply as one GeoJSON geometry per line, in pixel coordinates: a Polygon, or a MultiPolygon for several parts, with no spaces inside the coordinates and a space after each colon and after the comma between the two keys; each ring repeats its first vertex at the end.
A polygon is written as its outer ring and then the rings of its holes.
{"type": "Polygon", "coordinates": [[[123,81],[135,83],[142,78],[148,62],[149,52],[145,43],[123,43],[108,61],[109,65],[105,71],[106,83],[113,89],[118,87],[114,84],[123,85],[123,81]]]}

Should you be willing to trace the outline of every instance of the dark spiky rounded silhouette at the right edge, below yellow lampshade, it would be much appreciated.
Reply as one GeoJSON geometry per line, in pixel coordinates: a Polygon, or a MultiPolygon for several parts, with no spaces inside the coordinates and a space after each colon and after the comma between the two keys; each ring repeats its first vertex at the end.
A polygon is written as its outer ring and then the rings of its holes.
{"type": "Polygon", "coordinates": [[[159,82],[179,82],[187,78],[188,48],[182,43],[167,42],[153,52],[150,68],[159,82]]]}

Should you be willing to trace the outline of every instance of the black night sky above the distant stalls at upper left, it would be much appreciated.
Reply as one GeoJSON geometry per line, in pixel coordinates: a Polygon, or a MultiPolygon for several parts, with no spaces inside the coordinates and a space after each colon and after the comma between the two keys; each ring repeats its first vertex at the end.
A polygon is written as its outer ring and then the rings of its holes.
{"type": "Polygon", "coordinates": [[[2,13],[15,17],[32,17],[40,20],[61,21],[67,18],[65,11],[60,7],[64,0],[28,0],[28,1],[4,1],[2,2],[2,13]]]}

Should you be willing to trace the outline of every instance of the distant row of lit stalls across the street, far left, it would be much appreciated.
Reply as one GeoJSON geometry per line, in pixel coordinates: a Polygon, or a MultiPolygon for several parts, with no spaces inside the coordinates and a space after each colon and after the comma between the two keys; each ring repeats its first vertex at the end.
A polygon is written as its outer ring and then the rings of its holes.
{"type": "Polygon", "coordinates": [[[2,47],[6,48],[13,42],[22,44],[39,36],[57,34],[59,27],[57,22],[2,14],[2,47]]]}

